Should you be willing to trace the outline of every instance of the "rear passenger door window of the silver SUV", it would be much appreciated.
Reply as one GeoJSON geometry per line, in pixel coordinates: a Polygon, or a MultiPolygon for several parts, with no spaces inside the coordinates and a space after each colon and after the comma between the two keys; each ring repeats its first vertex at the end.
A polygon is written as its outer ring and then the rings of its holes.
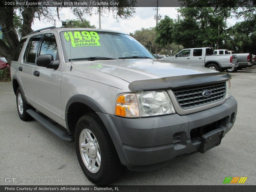
{"type": "Polygon", "coordinates": [[[24,62],[25,63],[32,63],[36,64],[36,50],[41,39],[42,35],[37,35],[31,37],[28,42],[26,53],[24,55],[24,62]]]}

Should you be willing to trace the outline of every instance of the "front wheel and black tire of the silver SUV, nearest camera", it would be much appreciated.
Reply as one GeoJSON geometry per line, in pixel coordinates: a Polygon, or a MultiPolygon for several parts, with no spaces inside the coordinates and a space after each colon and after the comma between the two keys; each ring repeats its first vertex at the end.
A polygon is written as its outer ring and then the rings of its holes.
{"type": "Polygon", "coordinates": [[[78,162],[85,176],[96,185],[108,185],[122,173],[123,165],[100,118],[95,114],[82,116],[75,130],[78,162]]]}

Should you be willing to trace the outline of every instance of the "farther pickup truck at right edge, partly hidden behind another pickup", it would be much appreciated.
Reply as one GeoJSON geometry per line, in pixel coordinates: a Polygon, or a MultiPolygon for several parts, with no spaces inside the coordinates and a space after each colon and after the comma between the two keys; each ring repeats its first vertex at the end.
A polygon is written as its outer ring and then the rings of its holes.
{"type": "Polygon", "coordinates": [[[226,49],[216,49],[213,52],[214,55],[227,55],[235,54],[237,57],[238,67],[232,67],[227,69],[227,72],[232,73],[242,68],[251,67],[253,65],[253,56],[252,53],[234,53],[234,51],[228,51],[226,49]]]}

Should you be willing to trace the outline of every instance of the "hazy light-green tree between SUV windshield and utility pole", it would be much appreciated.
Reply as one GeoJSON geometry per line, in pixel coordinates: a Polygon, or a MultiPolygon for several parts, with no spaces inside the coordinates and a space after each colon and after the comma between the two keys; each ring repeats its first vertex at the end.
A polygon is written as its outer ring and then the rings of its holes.
{"type": "Polygon", "coordinates": [[[140,30],[134,31],[134,33],[130,33],[130,35],[147,47],[148,50],[151,47],[151,52],[155,52],[156,28],[141,28],[140,30]]]}

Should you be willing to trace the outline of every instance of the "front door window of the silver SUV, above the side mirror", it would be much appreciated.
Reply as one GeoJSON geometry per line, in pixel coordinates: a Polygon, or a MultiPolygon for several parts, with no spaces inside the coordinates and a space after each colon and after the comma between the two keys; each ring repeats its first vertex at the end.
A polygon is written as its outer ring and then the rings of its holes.
{"type": "Polygon", "coordinates": [[[40,55],[53,55],[53,59],[56,60],[57,51],[58,49],[54,34],[46,33],[43,38],[40,55]]]}

